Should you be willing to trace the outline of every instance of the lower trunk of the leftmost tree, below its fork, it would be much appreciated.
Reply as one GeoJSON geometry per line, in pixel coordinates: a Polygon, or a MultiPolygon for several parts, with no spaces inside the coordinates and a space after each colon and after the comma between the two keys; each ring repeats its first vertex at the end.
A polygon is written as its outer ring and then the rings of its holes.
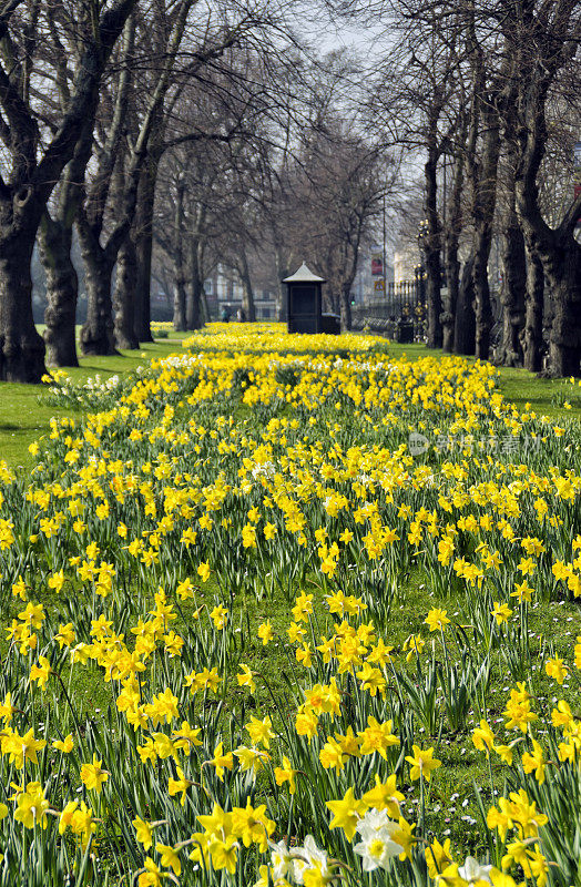
{"type": "Polygon", "coordinates": [[[32,316],[30,263],[35,225],[0,238],[0,380],[39,383],[44,343],[32,316]]]}

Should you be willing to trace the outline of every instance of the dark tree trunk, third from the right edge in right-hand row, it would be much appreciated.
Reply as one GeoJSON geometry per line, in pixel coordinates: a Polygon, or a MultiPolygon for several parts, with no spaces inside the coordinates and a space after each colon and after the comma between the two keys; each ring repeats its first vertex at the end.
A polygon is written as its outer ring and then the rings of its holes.
{"type": "Polygon", "coordinates": [[[524,237],[512,208],[502,231],[502,344],[498,363],[507,367],[522,366],[522,330],[527,294],[527,257],[524,237]]]}

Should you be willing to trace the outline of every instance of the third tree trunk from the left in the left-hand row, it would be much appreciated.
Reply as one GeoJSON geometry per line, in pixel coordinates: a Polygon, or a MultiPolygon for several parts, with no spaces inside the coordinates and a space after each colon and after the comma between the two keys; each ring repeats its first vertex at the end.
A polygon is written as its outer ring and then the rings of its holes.
{"type": "Polygon", "coordinates": [[[111,276],[114,261],[84,223],[78,224],[85,271],[86,320],[81,327],[83,355],[119,354],[115,348],[111,276]]]}

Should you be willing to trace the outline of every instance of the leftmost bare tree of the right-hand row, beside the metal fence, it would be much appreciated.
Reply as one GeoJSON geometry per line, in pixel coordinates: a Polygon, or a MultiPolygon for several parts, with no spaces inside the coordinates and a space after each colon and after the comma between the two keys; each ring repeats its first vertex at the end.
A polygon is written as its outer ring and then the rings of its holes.
{"type": "MultiPolygon", "coordinates": [[[[445,155],[455,150],[458,155],[457,133],[463,125],[461,28],[453,13],[442,16],[438,6],[421,0],[412,0],[400,10],[388,10],[386,6],[383,11],[395,39],[375,79],[370,108],[374,116],[379,116],[390,144],[405,150],[408,162],[422,165],[424,222],[418,242],[426,273],[427,345],[442,346],[446,323],[451,347],[452,303],[442,305],[441,286],[442,249],[448,245],[452,251],[452,242],[447,244],[444,230],[446,195],[439,180],[445,155]]],[[[456,167],[460,192],[465,165],[462,159],[456,167]]],[[[448,275],[449,293],[456,304],[458,267],[452,252],[448,275]]]]}

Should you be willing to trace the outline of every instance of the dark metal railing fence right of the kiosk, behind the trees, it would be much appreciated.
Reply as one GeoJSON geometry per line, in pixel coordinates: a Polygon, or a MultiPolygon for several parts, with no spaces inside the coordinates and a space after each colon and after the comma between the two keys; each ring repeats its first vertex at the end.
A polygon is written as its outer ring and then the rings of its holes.
{"type": "Polygon", "coordinates": [[[351,322],[354,329],[369,328],[390,338],[422,341],[426,334],[424,279],[389,283],[381,298],[353,306],[351,322]]]}

